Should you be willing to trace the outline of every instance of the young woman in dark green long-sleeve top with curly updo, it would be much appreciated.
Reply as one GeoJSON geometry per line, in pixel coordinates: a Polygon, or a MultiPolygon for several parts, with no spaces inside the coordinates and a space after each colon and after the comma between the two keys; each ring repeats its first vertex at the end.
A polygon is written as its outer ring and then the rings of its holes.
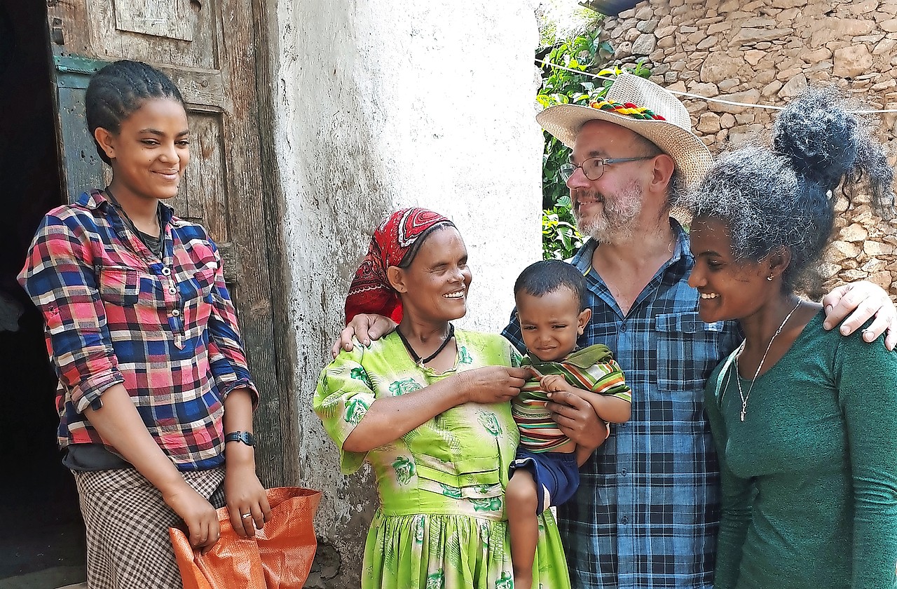
{"type": "Polygon", "coordinates": [[[707,385],[722,475],[715,589],[897,586],[897,356],[823,330],[796,287],[832,233],[833,192],[893,206],[881,145],[833,91],[809,91],[771,148],[722,156],[691,197],[689,284],[745,343],[707,385]]]}

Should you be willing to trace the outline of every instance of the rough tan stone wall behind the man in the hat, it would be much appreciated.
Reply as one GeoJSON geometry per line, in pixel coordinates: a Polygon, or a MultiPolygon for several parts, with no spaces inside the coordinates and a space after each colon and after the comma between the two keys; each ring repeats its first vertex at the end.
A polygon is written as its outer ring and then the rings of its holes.
{"type": "MultiPolygon", "coordinates": [[[[807,84],[836,85],[861,107],[897,109],[897,0],[652,0],[605,21],[614,58],[645,58],[671,91],[781,105],[807,84]]],[[[771,128],[775,110],[682,97],[714,154],[771,128]]],[[[897,154],[897,113],[875,115],[897,154]]],[[[897,220],[872,214],[867,199],[840,202],[824,287],[865,278],[897,295],[897,220]]]]}

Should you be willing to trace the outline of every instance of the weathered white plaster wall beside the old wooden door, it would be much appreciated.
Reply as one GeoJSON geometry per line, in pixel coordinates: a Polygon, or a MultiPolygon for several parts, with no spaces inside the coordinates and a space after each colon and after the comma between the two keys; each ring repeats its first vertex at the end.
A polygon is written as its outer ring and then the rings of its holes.
{"type": "Polygon", "coordinates": [[[342,561],[339,572],[331,563],[307,586],[354,587],[376,495],[367,471],[339,473],[334,445],[310,409],[318,372],[370,233],[399,207],[440,211],[464,236],[474,289],[459,324],[501,330],[507,323],[514,279],[541,257],[536,2],[269,5],[301,482],[324,490],[318,535],[342,561]]]}

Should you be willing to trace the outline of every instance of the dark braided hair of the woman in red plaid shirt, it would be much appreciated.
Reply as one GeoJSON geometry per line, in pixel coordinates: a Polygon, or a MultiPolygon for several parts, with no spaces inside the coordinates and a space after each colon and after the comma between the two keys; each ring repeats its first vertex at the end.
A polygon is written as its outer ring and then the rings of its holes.
{"type": "MultiPolygon", "coordinates": [[[[98,128],[118,134],[121,123],[144,105],[144,101],[168,98],[184,104],[176,86],[167,75],[139,61],[122,59],[103,67],[87,86],[87,128],[93,136],[98,128]]],[[[94,139],[103,162],[109,156],[94,139]]]]}

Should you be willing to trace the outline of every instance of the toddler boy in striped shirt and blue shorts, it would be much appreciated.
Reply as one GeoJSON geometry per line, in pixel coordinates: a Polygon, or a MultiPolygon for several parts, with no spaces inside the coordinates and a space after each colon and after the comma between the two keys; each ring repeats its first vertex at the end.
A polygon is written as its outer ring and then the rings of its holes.
{"type": "Polygon", "coordinates": [[[530,589],[536,515],[573,496],[579,487],[579,465],[588,458],[588,451],[554,423],[545,404],[553,392],[570,391],[588,400],[599,418],[623,423],[629,419],[631,393],[606,346],[576,349],[592,314],[579,270],[558,259],[531,264],[514,284],[514,298],[527,345],[521,365],[530,366],[534,376],[511,401],[520,445],[510,466],[505,501],[514,587],[530,589]]]}

